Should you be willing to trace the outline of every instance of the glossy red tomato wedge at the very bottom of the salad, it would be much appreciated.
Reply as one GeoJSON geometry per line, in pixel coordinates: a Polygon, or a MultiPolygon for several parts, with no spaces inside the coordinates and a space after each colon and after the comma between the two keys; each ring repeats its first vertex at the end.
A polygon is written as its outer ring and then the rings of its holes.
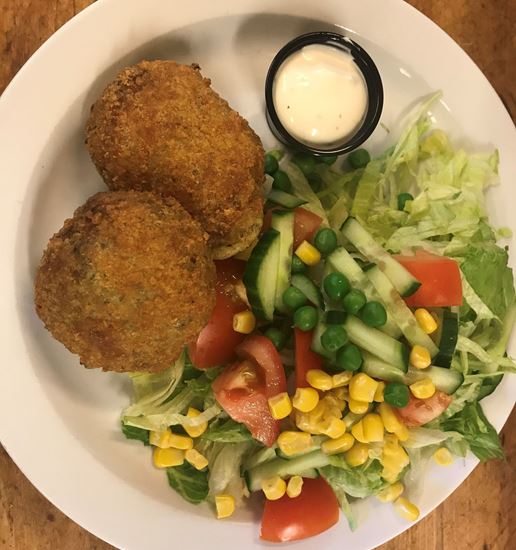
{"type": "Polygon", "coordinates": [[[305,539],[339,521],[339,503],[322,477],[304,479],[301,494],[266,500],[260,537],[270,542],[305,539]]]}

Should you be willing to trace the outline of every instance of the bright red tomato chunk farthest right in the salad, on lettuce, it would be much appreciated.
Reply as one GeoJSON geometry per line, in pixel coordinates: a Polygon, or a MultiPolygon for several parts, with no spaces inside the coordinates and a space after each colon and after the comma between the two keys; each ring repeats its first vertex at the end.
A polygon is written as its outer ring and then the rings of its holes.
{"type": "Polygon", "coordinates": [[[455,260],[425,251],[418,251],[414,256],[396,256],[396,259],[421,282],[419,289],[405,298],[408,306],[462,305],[462,283],[455,260]]]}

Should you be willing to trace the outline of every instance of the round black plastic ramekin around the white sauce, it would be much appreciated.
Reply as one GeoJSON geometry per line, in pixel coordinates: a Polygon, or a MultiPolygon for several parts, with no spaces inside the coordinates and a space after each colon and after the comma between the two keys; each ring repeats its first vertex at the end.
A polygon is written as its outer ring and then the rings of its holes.
{"type": "MultiPolygon", "coordinates": [[[[343,98],[343,101],[346,99],[343,98]]],[[[276,54],[267,72],[265,80],[265,105],[267,108],[267,123],[276,136],[287,147],[296,151],[310,153],[315,156],[341,155],[359,147],[373,133],[378,125],[383,108],[383,86],[380,73],[369,54],[356,42],[348,37],[334,32],[310,32],[291,40],[276,54]],[[273,99],[274,79],[282,63],[304,46],[324,44],[339,48],[352,55],[354,62],[360,69],[367,87],[367,111],[358,129],[350,136],[346,136],[340,143],[326,146],[308,145],[294,138],[281,124],[276,113],[273,99]]]]}

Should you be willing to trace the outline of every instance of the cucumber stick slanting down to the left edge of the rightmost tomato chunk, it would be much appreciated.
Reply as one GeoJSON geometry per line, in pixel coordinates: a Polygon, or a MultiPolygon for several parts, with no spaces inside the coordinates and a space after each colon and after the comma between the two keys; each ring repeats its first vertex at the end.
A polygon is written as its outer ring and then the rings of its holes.
{"type": "Polygon", "coordinates": [[[416,292],[421,283],[384,250],[355,218],[348,218],[342,226],[343,235],[387,275],[396,290],[406,298],[416,292]]]}

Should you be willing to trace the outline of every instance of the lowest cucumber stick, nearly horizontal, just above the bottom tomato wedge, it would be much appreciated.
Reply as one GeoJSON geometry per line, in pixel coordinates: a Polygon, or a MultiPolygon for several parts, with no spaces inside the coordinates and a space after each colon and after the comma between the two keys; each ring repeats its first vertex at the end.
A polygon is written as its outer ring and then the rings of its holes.
{"type": "Polygon", "coordinates": [[[302,456],[284,459],[275,458],[247,470],[244,474],[249,491],[259,491],[264,479],[280,476],[302,475],[313,468],[322,468],[330,463],[329,455],[322,451],[312,451],[302,456]]]}

